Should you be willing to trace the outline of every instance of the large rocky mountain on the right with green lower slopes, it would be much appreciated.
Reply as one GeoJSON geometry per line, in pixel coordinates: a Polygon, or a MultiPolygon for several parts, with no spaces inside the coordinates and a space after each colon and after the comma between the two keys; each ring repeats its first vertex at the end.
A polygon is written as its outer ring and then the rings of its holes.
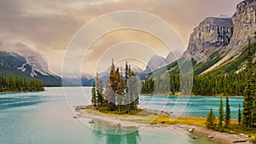
{"type": "MultiPolygon", "coordinates": [[[[246,63],[247,43],[254,43],[256,0],[238,3],[232,17],[208,17],[189,37],[188,52],[195,75],[207,72],[239,72],[246,63]]],[[[253,49],[255,44],[253,44],[253,49]]],[[[184,56],[184,55],[183,55],[184,56]]],[[[183,60],[183,58],[179,59],[183,60]]],[[[178,72],[177,61],[154,73],[178,72]]]]}

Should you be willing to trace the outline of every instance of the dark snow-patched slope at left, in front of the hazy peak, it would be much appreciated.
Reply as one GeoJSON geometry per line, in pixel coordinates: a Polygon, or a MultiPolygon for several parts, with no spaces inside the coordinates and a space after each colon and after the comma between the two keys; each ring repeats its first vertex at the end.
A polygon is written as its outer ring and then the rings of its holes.
{"type": "MultiPolygon", "coordinates": [[[[25,53],[25,49],[24,53],[25,53]]],[[[35,52],[34,52],[35,53],[35,52]]],[[[44,70],[39,62],[32,62],[37,55],[22,56],[13,49],[0,44],[0,74],[4,76],[39,79],[44,86],[61,86],[61,78],[55,76],[48,69],[44,70]],[[29,59],[30,58],[30,59],[29,59]]]]}

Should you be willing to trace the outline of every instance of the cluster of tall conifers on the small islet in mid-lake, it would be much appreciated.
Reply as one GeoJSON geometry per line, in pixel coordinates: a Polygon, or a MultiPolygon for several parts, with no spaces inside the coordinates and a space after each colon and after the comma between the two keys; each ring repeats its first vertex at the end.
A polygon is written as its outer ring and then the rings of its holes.
{"type": "Polygon", "coordinates": [[[136,74],[131,71],[131,66],[125,63],[125,73],[122,68],[113,64],[110,68],[107,84],[96,74],[96,82],[91,89],[91,103],[97,109],[131,113],[137,111],[139,104],[140,84],[136,74]],[[121,70],[120,70],[121,69],[121,70]]]}

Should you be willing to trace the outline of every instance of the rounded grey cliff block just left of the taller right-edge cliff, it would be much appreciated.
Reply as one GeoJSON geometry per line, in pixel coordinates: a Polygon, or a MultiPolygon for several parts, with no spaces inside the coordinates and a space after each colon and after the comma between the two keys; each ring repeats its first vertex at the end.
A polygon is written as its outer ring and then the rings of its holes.
{"type": "Polygon", "coordinates": [[[190,35],[189,54],[197,61],[207,60],[218,48],[230,43],[233,32],[231,18],[206,18],[190,35]]]}

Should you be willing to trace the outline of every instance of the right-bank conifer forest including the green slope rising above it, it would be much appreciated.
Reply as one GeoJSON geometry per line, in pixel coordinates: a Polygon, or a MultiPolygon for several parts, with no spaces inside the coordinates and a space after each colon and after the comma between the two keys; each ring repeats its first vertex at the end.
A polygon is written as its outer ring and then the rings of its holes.
{"type": "MultiPolygon", "coordinates": [[[[227,66],[222,66],[217,70],[212,70],[212,72],[207,72],[201,75],[194,76],[194,83],[192,89],[192,95],[244,95],[244,89],[246,82],[246,72],[247,69],[252,69],[256,72],[256,65],[253,61],[253,54],[256,52],[256,43],[249,46],[247,49],[238,57],[237,60],[233,60],[227,66]],[[252,53],[252,54],[251,54],[252,53]],[[252,56],[249,56],[252,55],[252,56]],[[251,61],[251,66],[247,66],[246,69],[240,70],[236,67],[241,61],[251,61]]],[[[255,78],[255,74],[250,77],[255,78]]],[[[177,94],[180,89],[181,84],[181,74],[180,73],[169,73],[169,76],[155,78],[149,77],[143,81],[142,94],[156,94],[156,95],[174,95],[177,94]],[[169,77],[169,78],[168,78],[169,77]],[[168,84],[169,83],[169,84],[168,84]],[[167,94],[166,94],[166,89],[167,94]]]]}

